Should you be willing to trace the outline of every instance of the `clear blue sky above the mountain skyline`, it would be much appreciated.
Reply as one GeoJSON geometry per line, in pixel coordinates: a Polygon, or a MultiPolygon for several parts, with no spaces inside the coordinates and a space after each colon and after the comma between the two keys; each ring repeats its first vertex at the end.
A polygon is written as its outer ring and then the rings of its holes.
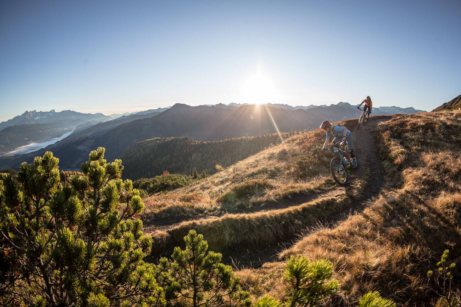
{"type": "Polygon", "coordinates": [[[432,110],[461,94],[460,16],[459,0],[5,0],[0,121],[245,102],[258,72],[267,102],[432,110]]]}

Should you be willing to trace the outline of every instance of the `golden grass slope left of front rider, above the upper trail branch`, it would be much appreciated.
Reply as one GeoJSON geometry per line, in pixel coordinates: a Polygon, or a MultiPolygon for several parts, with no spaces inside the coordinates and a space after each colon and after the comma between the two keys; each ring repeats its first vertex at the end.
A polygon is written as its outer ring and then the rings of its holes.
{"type": "Polygon", "coordinates": [[[319,130],[296,134],[193,185],[148,197],[142,219],[232,212],[331,190],[331,153],[319,154],[324,137],[319,130]]]}

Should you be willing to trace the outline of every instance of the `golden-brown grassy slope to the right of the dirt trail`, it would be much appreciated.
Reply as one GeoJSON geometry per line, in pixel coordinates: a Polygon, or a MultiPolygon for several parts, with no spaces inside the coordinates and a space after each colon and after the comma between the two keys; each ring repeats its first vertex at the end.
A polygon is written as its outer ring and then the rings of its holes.
{"type": "MultiPolygon", "coordinates": [[[[426,272],[444,249],[460,255],[461,112],[393,116],[378,126],[376,141],[388,187],[362,214],[301,238],[281,259],[328,259],[343,293],[329,306],[378,290],[401,306],[429,305],[426,272]]],[[[284,263],[238,272],[255,296],[284,296],[284,263]]],[[[459,277],[459,275],[458,275],[459,277]]]]}

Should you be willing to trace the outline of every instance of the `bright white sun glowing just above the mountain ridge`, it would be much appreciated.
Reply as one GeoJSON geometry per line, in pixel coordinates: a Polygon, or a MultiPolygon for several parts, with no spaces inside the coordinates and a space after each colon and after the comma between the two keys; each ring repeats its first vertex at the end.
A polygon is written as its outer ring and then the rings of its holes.
{"type": "Polygon", "coordinates": [[[273,101],[275,95],[272,81],[261,73],[251,76],[245,82],[242,91],[243,102],[264,104],[273,101]]]}

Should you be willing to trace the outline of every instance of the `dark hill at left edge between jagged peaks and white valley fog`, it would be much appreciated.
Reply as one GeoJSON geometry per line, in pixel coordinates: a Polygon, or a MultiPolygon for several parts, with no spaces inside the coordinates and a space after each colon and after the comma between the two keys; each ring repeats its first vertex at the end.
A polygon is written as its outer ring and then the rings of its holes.
{"type": "Polygon", "coordinates": [[[0,156],[33,142],[42,142],[71,130],[63,124],[30,124],[6,127],[0,131],[0,156]]]}

